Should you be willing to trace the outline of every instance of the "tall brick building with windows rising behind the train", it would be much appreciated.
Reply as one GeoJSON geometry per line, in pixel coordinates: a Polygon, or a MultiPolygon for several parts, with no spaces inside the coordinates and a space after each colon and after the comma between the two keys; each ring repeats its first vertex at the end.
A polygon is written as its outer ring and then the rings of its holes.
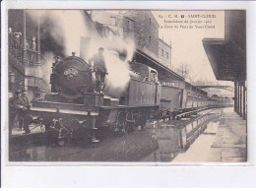
{"type": "Polygon", "coordinates": [[[171,70],[171,46],[160,39],[160,26],[152,12],[131,10],[124,15],[135,21],[134,59],[158,70],[160,82],[164,86],[184,89],[184,78],[171,70]]]}

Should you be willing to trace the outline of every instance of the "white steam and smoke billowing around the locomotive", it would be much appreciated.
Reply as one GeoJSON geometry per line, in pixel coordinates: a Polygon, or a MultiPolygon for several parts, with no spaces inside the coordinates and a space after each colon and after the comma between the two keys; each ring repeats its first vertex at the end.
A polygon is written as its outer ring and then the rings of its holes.
{"type": "MultiPolygon", "coordinates": [[[[111,96],[122,94],[130,80],[129,61],[135,50],[134,39],[124,40],[121,36],[115,35],[112,35],[110,39],[103,38],[96,31],[95,24],[81,10],[36,10],[28,11],[28,14],[32,16],[34,22],[37,22],[38,17],[41,24],[51,22],[50,34],[56,43],[64,47],[64,56],[70,56],[71,52],[76,52],[76,55],[80,56],[81,37],[90,39],[87,48],[82,50],[82,53],[86,55],[84,58],[86,61],[97,53],[98,47],[103,47],[108,71],[106,89],[111,96]],[[119,58],[118,51],[127,53],[125,60],[119,58]]],[[[49,82],[51,64],[56,56],[54,54],[54,51],[43,54],[46,63],[43,66],[42,77],[47,78],[46,82],[49,82]]]]}

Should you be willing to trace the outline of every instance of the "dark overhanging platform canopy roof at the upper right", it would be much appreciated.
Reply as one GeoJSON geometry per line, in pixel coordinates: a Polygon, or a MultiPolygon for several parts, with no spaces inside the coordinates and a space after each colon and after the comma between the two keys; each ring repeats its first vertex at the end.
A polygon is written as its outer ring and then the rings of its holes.
{"type": "Polygon", "coordinates": [[[203,45],[217,80],[246,79],[246,12],[224,11],[224,39],[204,38],[203,45]]]}

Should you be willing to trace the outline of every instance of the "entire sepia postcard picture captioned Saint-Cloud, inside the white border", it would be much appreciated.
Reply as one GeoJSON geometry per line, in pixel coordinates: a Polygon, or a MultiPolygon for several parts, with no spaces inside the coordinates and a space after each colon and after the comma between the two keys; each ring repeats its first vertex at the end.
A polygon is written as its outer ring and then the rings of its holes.
{"type": "Polygon", "coordinates": [[[246,10],[9,9],[15,162],[246,163],[246,10]]]}

